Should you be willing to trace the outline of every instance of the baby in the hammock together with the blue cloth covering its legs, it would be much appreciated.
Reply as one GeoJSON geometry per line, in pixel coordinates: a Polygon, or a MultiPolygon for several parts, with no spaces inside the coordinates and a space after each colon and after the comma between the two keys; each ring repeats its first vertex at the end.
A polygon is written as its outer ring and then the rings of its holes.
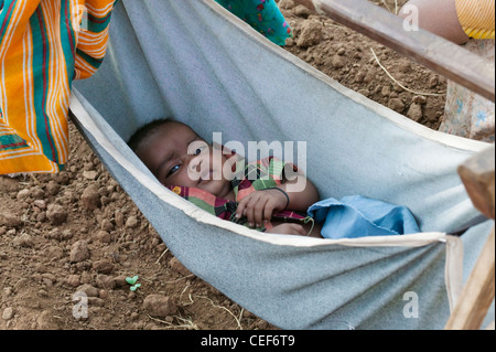
{"type": "Polygon", "coordinates": [[[129,146],[163,185],[251,228],[336,239],[419,232],[405,206],[362,195],[320,201],[315,185],[292,163],[272,157],[246,163],[182,122],[153,121],[129,146]]]}

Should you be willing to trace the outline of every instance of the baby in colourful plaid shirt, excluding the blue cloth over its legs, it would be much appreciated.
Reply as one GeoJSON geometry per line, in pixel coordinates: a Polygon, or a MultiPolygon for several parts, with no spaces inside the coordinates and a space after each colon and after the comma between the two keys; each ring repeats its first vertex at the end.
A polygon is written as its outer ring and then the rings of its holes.
{"type": "Polygon", "coordinates": [[[219,217],[269,233],[322,237],[319,225],[298,213],[319,200],[317,190],[292,164],[266,158],[237,170],[237,154],[170,119],[144,126],[129,146],[163,185],[219,217]]]}

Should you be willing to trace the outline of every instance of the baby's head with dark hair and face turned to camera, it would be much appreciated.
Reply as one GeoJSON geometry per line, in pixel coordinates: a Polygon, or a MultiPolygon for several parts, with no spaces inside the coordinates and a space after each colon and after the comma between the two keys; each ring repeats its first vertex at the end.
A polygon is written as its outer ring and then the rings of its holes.
{"type": "Polygon", "coordinates": [[[137,154],[164,185],[193,186],[220,198],[231,193],[227,159],[219,150],[214,157],[212,146],[186,125],[160,126],[137,154]]]}

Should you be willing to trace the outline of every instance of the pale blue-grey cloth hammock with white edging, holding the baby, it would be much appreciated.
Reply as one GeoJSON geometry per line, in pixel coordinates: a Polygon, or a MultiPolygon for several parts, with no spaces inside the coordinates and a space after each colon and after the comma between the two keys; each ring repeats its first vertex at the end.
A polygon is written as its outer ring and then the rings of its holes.
{"type": "Polygon", "coordinates": [[[487,143],[343,87],[213,0],[120,1],[106,61],[75,88],[76,125],[174,256],[283,329],[442,329],[493,226],[448,235],[478,215],[456,168],[487,143]],[[162,186],[126,143],[166,116],[223,142],[294,141],[322,198],[405,204],[421,233],[320,239],[217,218],[162,186]]]}

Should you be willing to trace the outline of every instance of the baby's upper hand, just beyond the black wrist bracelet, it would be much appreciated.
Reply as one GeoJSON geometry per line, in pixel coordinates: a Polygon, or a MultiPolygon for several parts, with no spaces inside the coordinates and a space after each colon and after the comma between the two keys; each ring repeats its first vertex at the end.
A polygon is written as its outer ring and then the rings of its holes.
{"type": "Polygon", "coordinates": [[[250,227],[260,227],[263,221],[270,221],[274,212],[283,211],[287,205],[283,192],[271,189],[255,191],[238,203],[236,217],[246,216],[250,227]]]}

